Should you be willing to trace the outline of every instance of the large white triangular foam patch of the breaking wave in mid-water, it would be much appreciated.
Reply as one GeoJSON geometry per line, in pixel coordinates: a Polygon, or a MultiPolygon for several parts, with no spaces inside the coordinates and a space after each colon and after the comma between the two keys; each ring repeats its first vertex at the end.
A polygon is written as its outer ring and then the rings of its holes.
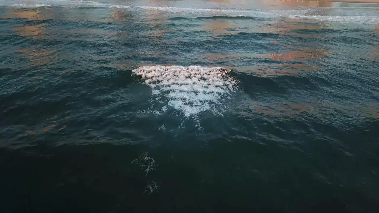
{"type": "Polygon", "coordinates": [[[164,105],[154,114],[173,109],[187,118],[204,111],[222,115],[225,100],[238,91],[236,79],[228,72],[223,67],[146,66],[133,70],[133,75],[140,76],[164,105]]]}

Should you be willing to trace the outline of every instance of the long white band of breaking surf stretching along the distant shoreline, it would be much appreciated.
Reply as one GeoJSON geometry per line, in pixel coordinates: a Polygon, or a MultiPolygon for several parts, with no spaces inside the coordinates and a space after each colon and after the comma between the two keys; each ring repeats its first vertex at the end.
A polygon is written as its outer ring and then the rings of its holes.
{"type": "MultiPolygon", "coordinates": [[[[49,8],[49,7],[73,7],[73,8],[133,8],[132,10],[149,10],[163,11],[168,14],[180,14],[180,17],[171,17],[170,20],[181,19],[251,19],[267,20],[280,17],[289,17],[293,19],[316,19],[320,21],[341,22],[341,23],[360,23],[366,25],[379,24],[379,16],[318,16],[310,15],[310,12],[317,12],[315,9],[292,9],[292,10],[260,10],[260,9],[233,9],[233,8],[179,8],[164,6],[128,6],[128,5],[111,5],[100,2],[84,0],[31,0],[30,4],[5,5],[18,8],[49,8]],[[193,15],[196,14],[196,15],[193,15]],[[198,15],[197,15],[198,14],[198,15]],[[186,17],[186,15],[189,15],[186,17]],[[195,16],[195,17],[193,17],[195,16]]],[[[349,8],[349,7],[347,7],[349,8]]]]}

